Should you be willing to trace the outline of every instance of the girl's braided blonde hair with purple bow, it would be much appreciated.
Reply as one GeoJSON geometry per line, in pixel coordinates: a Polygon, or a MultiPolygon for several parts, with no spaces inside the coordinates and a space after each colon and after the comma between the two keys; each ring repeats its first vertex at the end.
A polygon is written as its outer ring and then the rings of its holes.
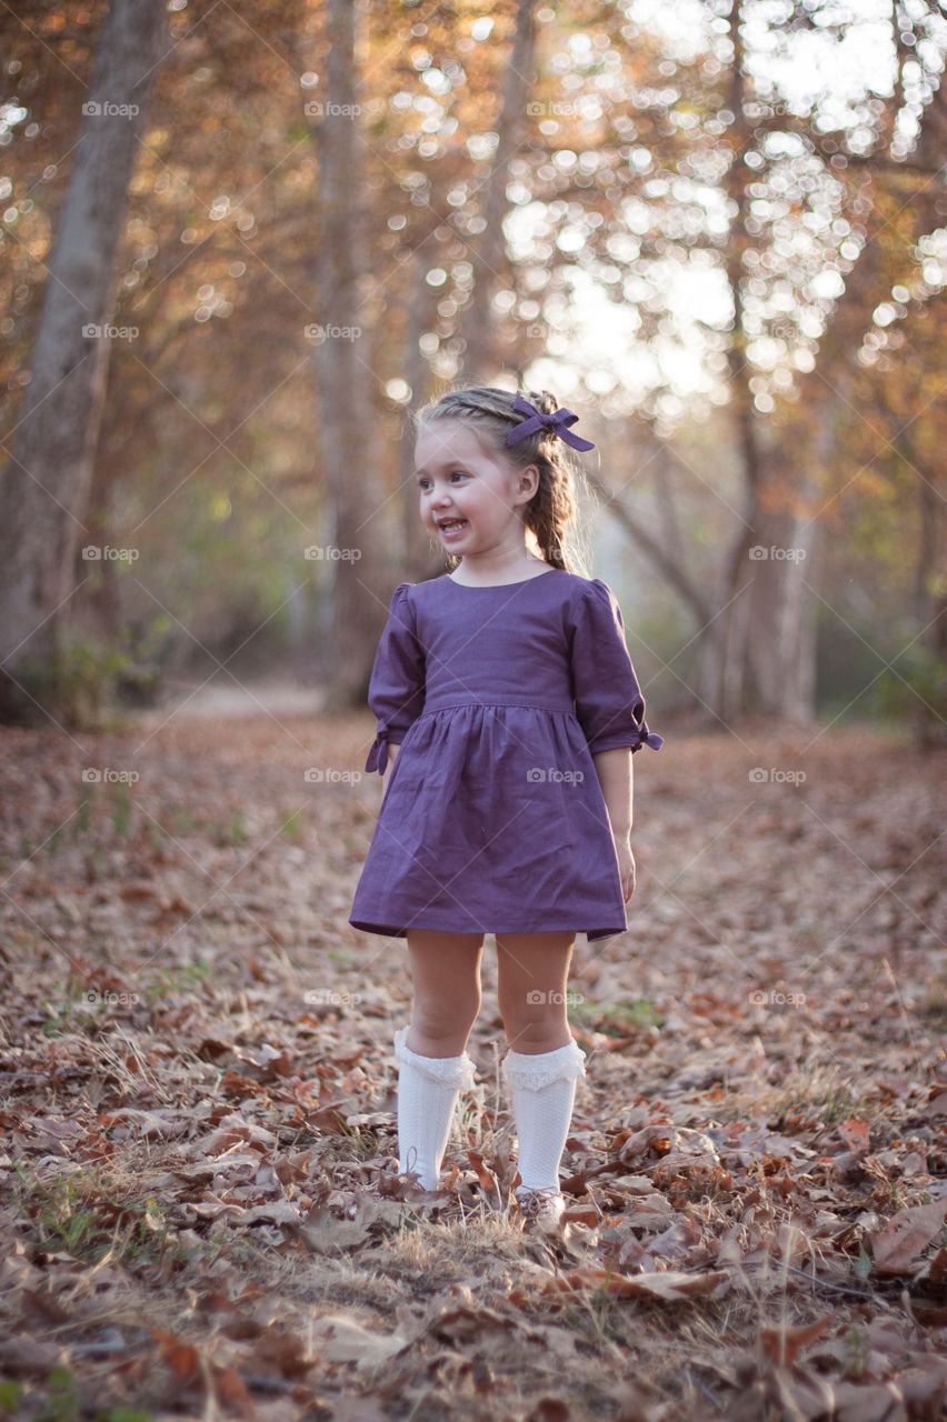
{"type": "MultiPolygon", "coordinates": [[[[539,429],[515,445],[506,444],[510,429],[528,418],[513,410],[516,394],[493,385],[448,390],[414,412],[411,424],[417,432],[421,425],[431,425],[438,419],[469,419],[483,448],[503,459],[510,469],[526,469],[535,464],[539,485],[526,505],[523,522],[532,529],[547,563],[587,577],[584,538],[579,530],[577,516],[579,495],[590,498],[590,491],[582,466],[549,429],[539,429]]],[[[547,390],[523,390],[519,394],[543,415],[552,415],[559,408],[556,397],[547,390]]],[[[461,562],[452,553],[446,557],[452,567],[461,562]]]]}

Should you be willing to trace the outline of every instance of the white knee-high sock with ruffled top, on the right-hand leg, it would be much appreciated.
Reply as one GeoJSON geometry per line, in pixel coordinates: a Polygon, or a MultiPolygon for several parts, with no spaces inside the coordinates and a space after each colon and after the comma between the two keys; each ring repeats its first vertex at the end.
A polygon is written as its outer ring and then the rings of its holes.
{"type": "Polygon", "coordinates": [[[586,1074],[586,1054],[573,1038],[552,1052],[508,1052],[503,1075],[513,1098],[519,1136],[520,1190],[557,1190],[559,1162],[576,1099],[576,1081],[586,1074]]]}

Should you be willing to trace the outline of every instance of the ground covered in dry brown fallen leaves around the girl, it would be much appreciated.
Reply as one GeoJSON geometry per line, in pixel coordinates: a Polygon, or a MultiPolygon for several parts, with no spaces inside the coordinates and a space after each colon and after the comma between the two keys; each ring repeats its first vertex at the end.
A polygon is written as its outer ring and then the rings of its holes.
{"type": "Polygon", "coordinates": [[[397,1173],[405,946],[347,923],[373,720],[165,721],[0,732],[0,1411],[944,1415],[944,752],[759,721],[636,757],[543,1243],[489,939],[444,1189],[397,1173]]]}

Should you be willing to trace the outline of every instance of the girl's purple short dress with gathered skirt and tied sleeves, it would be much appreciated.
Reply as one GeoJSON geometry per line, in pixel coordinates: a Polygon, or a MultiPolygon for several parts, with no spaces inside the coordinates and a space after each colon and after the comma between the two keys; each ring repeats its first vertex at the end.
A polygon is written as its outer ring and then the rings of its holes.
{"type": "Polygon", "coordinates": [[[611,589],[562,569],[400,583],[365,771],[401,745],[348,921],[370,933],[627,929],[593,754],[660,749],[611,589]]]}

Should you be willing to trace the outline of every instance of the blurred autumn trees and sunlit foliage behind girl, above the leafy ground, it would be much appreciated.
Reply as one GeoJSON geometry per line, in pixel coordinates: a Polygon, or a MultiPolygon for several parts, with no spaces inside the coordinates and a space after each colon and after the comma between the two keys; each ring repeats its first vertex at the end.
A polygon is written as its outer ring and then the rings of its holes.
{"type": "MultiPolygon", "coordinates": [[[[943,0],[4,7],[0,714],[364,705],[407,412],[550,388],[648,704],[947,715],[943,0]]],[[[46,720],[48,724],[48,720],[46,720]]]]}

